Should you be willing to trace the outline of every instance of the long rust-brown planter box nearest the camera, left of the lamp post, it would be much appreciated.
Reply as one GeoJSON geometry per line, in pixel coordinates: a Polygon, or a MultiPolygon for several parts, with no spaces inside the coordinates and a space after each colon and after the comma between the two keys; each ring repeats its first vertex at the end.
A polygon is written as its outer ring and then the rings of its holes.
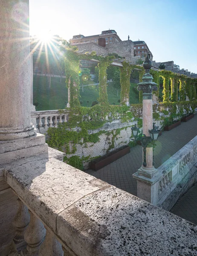
{"type": "Polygon", "coordinates": [[[95,161],[90,163],[90,169],[98,171],[102,167],[107,166],[110,163],[113,163],[115,160],[125,156],[125,154],[128,154],[129,152],[130,152],[129,146],[125,146],[124,148],[121,148],[120,150],[116,150],[114,152],[110,152],[110,154],[104,157],[101,157],[99,159],[96,159],[95,161]]]}

